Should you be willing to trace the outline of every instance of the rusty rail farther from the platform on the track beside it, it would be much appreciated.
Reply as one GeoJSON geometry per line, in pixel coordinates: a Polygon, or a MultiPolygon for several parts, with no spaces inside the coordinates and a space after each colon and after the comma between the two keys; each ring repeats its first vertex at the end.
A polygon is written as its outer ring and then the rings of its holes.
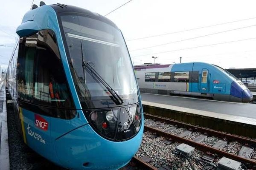
{"type": "Polygon", "coordinates": [[[192,140],[181,138],[181,137],[172,135],[170,133],[166,133],[166,132],[163,132],[163,131],[160,131],[160,130],[157,130],[155,128],[148,127],[148,126],[145,126],[145,125],[144,125],[144,130],[152,132],[152,133],[156,133],[157,135],[166,137],[168,139],[172,139],[173,141],[189,144],[190,146],[195,147],[196,149],[202,150],[204,152],[209,151],[211,153],[216,153],[219,156],[225,156],[225,157],[230,158],[230,159],[235,159],[235,160],[239,160],[239,161],[242,161],[242,162],[245,162],[245,163],[249,163],[253,166],[253,169],[256,170],[256,161],[251,161],[249,159],[245,159],[245,158],[242,158],[240,156],[236,156],[236,155],[233,155],[231,153],[227,153],[227,152],[224,152],[222,150],[218,150],[218,149],[215,149],[213,147],[209,147],[209,146],[204,145],[204,144],[193,142],[192,140]]]}

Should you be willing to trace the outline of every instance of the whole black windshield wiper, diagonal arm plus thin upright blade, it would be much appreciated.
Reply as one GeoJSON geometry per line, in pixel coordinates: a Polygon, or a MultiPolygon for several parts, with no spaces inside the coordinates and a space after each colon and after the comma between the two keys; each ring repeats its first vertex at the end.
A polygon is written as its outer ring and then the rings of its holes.
{"type": "MultiPolygon", "coordinates": [[[[111,94],[111,99],[116,103],[116,105],[122,105],[124,102],[122,100],[122,98],[116,93],[116,91],[113,90],[113,88],[111,88],[111,86],[93,69],[93,66],[90,65],[90,61],[85,61],[84,60],[84,53],[83,53],[83,43],[81,40],[81,54],[82,54],[82,66],[83,66],[83,71],[84,71],[84,85],[86,86],[86,73],[85,73],[85,69],[89,70],[88,72],[92,75],[92,77],[95,77],[97,79],[97,81],[101,82],[102,85],[105,86],[105,88],[107,88],[107,90],[109,91],[109,93],[111,94]]],[[[85,89],[86,90],[86,89],[85,89]]]]}

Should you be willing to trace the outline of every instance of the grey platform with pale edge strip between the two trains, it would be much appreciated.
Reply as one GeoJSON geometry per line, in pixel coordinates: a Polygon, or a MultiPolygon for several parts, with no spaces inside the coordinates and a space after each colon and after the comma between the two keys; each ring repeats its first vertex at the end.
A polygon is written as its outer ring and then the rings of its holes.
{"type": "Polygon", "coordinates": [[[256,104],[141,93],[143,105],[256,125],[256,104]]]}

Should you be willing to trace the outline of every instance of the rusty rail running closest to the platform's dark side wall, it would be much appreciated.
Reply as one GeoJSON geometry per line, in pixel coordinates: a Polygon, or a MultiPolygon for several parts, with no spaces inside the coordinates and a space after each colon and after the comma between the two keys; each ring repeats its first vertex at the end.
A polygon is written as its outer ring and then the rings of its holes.
{"type": "Polygon", "coordinates": [[[149,115],[149,114],[146,114],[146,113],[144,113],[144,116],[147,117],[147,118],[150,118],[150,119],[156,119],[156,120],[159,120],[161,122],[166,122],[166,123],[169,123],[169,124],[172,124],[172,125],[178,125],[180,127],[186,127],[188,129],[192,129],[192,130],[195,130],[197,132],[207,133],[208,135],[227,138],[230,141],[237,141],[237,142],[240,142],[240,143],[243,143],[243,144],[256,145],[256,141],[251,140],[251,139],[246,139],[246,138],[243,138],[243,137],[234,136],[234,135],[230,135],[230,134],[227,134],[227,133],[222,133],[222,132],[218,132],[218,131],[215,131],[215,130],[206,129],[206,128],[203,128],[203,127],[189,125],[189,124],[186,124],[186,123],[177,122],[175,120],[170,120],[170,119],[166,119],[166,118],[162,118],[162,117],[158,117],[158,116],[153,116],[153,115],[149,115]]]}

